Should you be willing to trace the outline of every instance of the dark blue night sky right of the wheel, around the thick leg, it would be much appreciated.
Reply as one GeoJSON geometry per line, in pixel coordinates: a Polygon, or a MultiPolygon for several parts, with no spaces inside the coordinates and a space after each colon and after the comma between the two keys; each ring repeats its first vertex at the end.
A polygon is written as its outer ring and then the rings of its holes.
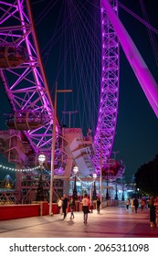
{"type": "MultiPolygon", "coordinates": [[[[143,3],[151,25],[158,27],[157,14],[153,7],[154,1],[124,0],[120,2],[141,17],[140,4],[143,3]]],[[[158,81],[158,67],[146,27],[121,8],[120,16],[124,27],[153,73],[154,79],[158,81]]],[[[157,35],[153,34],[153,37],[158,42],[157,35]]],[[[153,157],[158,154],[158,120],[122,51],[120,104],[114,148],[120,151],[126,165],[125,175],[129,178],[141,165],[153,160],[153,157]]]]}

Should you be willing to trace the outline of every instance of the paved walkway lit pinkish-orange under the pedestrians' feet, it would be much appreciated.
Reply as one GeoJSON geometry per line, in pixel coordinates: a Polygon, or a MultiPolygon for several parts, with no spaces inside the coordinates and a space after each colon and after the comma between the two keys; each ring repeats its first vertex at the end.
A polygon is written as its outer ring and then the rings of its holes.
{"type": "Polygon", "coordinates": [[[150,227],[149,209],[138,213],[126,208],[108,207],[100,214],[89,214],[83,223],[82,212],[75,219],[61,215],[0,221],[0,238],[158,238],[158,228],[150,227]]]}

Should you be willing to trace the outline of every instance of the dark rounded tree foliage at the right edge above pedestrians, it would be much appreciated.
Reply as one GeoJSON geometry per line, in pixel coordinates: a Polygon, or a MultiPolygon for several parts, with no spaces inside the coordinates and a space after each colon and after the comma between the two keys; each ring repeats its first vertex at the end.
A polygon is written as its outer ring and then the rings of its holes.
{"type": "Polygon", "coordinates": [[[149,196],[158,196],[158,155],[153,161],[142,165],[135,173],[136,187],[149,196]]]}

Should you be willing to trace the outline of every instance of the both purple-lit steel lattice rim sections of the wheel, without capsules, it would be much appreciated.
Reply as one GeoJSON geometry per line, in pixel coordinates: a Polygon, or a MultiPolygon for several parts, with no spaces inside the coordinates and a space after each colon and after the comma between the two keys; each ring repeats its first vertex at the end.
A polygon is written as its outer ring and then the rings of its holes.
{"type": "MultiPolygon", "coordinates": [[[[14,112],[19,110],[42,112],[45,121],[43,125],[24,133],[36,154],[45,152],[50,155],[54,106],[37,46],[29,1],[16,0],[12,1],[12,4],[10,2],[0,1],[0,46],[25,48],[26,58],[18,66],[9,67],[8,64],[7,69],[0,69],[0,76],[14,112]]],[[[112,0],[111,5],[117,13],[117,0],[112,0]]],[[[96,167],[100,166],[100,150],[104,160],[111,155],[119,97],[119,43],[101,1],[100,10],[102,74],[100,110],[94,136],[96,154],[93,162],[96,167]]],[[[59,129],[58,123],[57,129],[59,129]]]]}

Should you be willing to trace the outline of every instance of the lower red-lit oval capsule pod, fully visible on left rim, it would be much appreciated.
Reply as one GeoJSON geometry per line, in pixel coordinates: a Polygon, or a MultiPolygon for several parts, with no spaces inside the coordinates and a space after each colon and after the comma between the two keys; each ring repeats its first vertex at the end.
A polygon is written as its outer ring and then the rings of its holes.
{"type": "Polygon", "coordinates": [[[20,131],[34,130],[44,124],[43,114],[32,110],[9,113],[6,115],[5,123],[9,129],[20,131]]]}

